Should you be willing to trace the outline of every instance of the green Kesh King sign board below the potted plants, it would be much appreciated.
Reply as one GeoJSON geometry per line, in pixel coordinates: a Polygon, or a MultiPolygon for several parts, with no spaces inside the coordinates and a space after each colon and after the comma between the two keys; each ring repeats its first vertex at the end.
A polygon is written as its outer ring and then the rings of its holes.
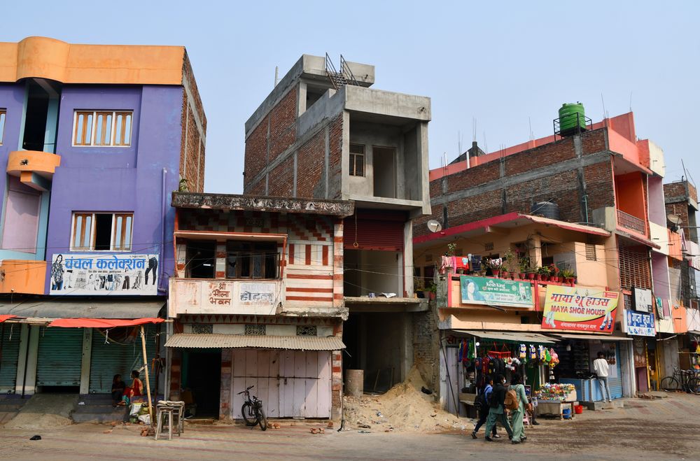
{"type": "Polygon", "coordinates": [[[532,285],[501,278],[461,276],[462,304],[533,307],[532,285]]]}

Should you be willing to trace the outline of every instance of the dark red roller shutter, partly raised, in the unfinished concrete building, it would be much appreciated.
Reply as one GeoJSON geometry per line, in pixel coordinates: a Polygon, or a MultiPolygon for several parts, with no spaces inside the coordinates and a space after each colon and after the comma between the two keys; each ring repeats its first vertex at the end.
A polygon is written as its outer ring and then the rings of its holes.
{"type": "Polygon", "coordinates": [[[405,222],[404,215],[392,213],[349,216],[343,225],[344,247],[349,250],[403,251],[405,222]],[[356,235],[357,247],[354,246],[356,235]]]}

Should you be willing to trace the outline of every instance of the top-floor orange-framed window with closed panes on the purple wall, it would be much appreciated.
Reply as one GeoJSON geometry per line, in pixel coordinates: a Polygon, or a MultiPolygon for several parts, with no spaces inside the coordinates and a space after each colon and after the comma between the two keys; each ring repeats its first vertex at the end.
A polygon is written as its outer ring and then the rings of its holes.
{"type": "Polygon", "coordinates": [[[131,146],[131,111],[76,111],[73,146],[131,146]]]}

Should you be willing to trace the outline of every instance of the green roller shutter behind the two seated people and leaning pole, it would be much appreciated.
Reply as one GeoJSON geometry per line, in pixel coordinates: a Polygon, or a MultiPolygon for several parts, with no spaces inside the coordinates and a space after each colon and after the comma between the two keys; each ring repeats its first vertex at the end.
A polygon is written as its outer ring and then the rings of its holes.
{"type": "MultiPolygon", "coordinates": [[[[158,327],[147,325],[146,329],[146,355],[148,356],[148,376],[151,385],[155,383],[153,374],[153,357],[155,357],[155,334],[158,327]]],[[[137,332],[140,329],[137,327],[137,332]]],[[[112,337],[112,336],[110,336],[112,337]]],[[[144,365],[144,353],[141,349],[141,333],[137,333],[132,343],[117,343],[109,341],[105,343],[104,332],[99,329],[92,330],[92,354],[90,356],[90,393],[109,393],[112,389],[112,378],[116,374],[122,375],[122,381],[131,385],[131,372],[144,365]]],[[[141,372],[141,381],[146,385],[146,379],[141,372]]],[[[144,392],[146,392],[144,390],[144,392]]]]}

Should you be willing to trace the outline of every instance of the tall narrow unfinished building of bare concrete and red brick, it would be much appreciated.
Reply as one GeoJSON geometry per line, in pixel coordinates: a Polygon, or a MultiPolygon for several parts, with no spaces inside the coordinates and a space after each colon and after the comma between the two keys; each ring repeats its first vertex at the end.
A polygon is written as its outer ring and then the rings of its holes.
{"type": "Polygon", "coordinates": [[[302,55],[246,122],[244,194],[355,202],[344,220],[343,365],[381,390],[405,378],[426,317],[413,297],[412,221],[430,213],[430,99],[373,83],[374,66],[341,57],[336,70],[328,56],[302,55]]]}

